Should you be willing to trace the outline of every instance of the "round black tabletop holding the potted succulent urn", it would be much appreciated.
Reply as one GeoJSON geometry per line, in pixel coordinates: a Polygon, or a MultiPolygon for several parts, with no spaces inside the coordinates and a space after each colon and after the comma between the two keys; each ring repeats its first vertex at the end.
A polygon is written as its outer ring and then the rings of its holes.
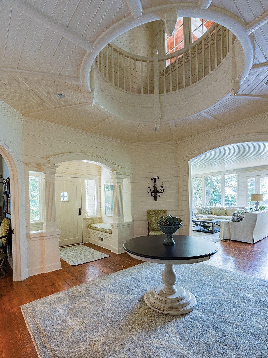
{"type": "Polygon", "coordinates": [[[189,260],[212,256],[218,251],[214,242],[199,237],[173,235],[175,245],[164,245],[164,240],[165,235],[134,237],[126,241],[123,247],[133,255],[158,260],[189,260]]]}

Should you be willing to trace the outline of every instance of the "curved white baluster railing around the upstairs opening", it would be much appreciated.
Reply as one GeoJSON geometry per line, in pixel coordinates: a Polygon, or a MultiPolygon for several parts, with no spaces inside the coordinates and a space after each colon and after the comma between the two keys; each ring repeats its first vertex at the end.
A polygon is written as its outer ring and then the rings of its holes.
{"type": "MultiPolygon", "coordinates": [[[[171,93],[208,76],[229,52],[230,32],[215,24],[200,40],[172,54],[157,56],[159,93],[171,93]],[[170,76],[171,74],[171,76],[170,76]]],[[[137,95],[154,95],[154,57],[124,52],[108,44],[95,59],[95,68],[113,86],[137,95]]]]}

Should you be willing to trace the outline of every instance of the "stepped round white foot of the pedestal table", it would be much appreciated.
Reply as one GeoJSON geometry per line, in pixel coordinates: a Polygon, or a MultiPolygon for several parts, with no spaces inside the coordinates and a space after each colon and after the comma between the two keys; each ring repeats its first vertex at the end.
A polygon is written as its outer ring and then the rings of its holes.
{"type": "Polygon", "coordinates": [[[170,315],[182,315],[191,312],[196,306],[196,299],[192,292],[175,285],[175,294],[162,291],[164,285],[150,288],[144,295],[145,303],[153,310],[170,315]]]}

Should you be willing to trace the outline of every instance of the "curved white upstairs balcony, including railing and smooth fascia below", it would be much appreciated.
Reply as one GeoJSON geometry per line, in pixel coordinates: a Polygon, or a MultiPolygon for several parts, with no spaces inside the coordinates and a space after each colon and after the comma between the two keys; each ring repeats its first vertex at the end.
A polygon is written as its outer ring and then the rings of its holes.
{"type": "Polygon", "coordinates": [[[157,126],[160,118],[172,121],[204,111],[237,92],[243,61],[239,41],[218,24],[171,55],[155,50],[154,56],[142,57],[108,44],[95,59],[94,100],[110,115],[157,126]]]}

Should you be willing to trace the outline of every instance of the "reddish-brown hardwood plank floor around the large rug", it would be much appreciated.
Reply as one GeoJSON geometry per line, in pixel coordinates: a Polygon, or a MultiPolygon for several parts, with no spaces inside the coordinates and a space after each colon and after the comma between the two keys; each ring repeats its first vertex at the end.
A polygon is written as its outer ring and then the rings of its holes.
{"type": "MultiPolygon", "coordinates": [[[[13,282],[9,267],[8,277],[0,280],[0,357],[38,358],[20,310],[21,305],[142,262],[127,253],[116,255],[93,244],[85,245],[110,257],[78,266],[70,266],[60,260],[61,270],[31,276],[22,282],[13,282]]],[[[206,263],[268,279],[268,237],[254,245],[237,241],[220,241],[217,245],[219,251],[206,263]]]]}

